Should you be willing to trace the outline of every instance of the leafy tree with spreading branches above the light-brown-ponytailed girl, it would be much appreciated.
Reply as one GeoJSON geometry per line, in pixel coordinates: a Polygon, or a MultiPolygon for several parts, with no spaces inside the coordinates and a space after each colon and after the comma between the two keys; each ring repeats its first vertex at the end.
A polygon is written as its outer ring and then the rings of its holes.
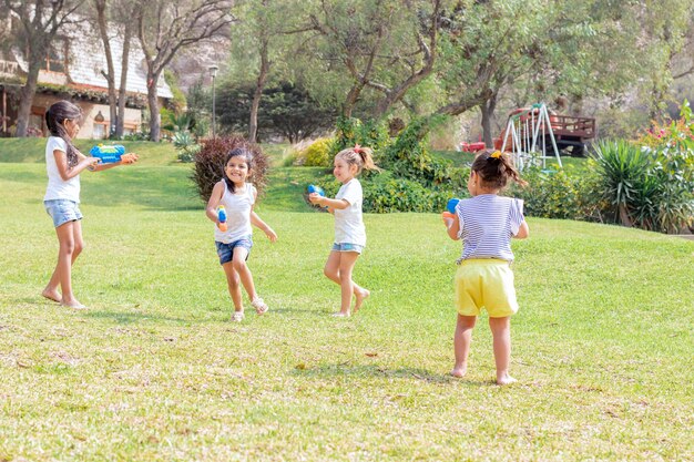
{"type": "MultiPolygon", "coordinates": [[[[314,65],[337,73],[346,88],[343,115],[350,116],[365,90],[376,117],[431,74],[442,0],[327,0],[308,11],[314,65]]],[[[448,3],[448,2],[446,2],[448,3]]]]}

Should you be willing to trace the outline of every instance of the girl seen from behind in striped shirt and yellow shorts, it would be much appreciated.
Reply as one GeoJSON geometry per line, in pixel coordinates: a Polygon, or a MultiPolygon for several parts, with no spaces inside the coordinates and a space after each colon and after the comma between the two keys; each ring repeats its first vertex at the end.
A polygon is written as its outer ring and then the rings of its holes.
{"type": "Polygon", "coordinates": [[[511,161],[501,152],[484,150],[472,163],[468,191],[453,218],[445,218],[451,239],[462,239],[462,255],[456,273],[458,322],[453,337],[456,366],[453,377],[463,377],[472,329],[484,308],[493,337],[497,383],[516,381],[509,374],[511,359],[511,315],[518,311],[513,287],[511,238],[528,237],[528,223],[520,199],[499,196],[508,181],[524,185],[511,161]]]}

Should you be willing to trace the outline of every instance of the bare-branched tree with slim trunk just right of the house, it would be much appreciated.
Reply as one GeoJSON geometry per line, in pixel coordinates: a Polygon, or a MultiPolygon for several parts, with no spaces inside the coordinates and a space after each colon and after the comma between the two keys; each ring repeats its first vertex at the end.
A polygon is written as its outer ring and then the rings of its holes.
{"type": "Polygon", "coordinates": [[[159,141],[159,79],[173,57],[202,40],[227,37],[232,0],[152,0],[139,3],[134,20],[146,64],[150,140],[159,141]]]}

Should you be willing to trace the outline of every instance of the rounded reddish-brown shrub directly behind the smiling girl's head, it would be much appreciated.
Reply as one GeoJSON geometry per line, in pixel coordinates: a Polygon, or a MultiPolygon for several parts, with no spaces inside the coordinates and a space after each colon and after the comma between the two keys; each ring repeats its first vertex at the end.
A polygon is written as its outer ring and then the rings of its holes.
{"type": "Polygon", "coordinates": [[[191,179],[195,183],[197,194],[203,202],[210,201],[212,188],[224,176],[226,155],[236,147],[244,147],[253,153],[254,160],[248,181],[258,191],[258,196],[265,191],[269,161],[257,144],[248,143],[239,136],[210,138],[203,142],[200,152],[195,154],[195,167],[191,174],[191,179]]]}

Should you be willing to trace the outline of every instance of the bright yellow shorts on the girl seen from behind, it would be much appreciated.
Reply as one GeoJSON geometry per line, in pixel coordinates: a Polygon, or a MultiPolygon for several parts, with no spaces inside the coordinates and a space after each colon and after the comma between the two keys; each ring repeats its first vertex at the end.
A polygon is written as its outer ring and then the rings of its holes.
{"type": "Polygon", "coordinates": [[[479,316],[484,308],[491,318],[518,311],[513,271],[499,259],[463,260],[456,273],[456,308],[461,316],[479,316]]]}

